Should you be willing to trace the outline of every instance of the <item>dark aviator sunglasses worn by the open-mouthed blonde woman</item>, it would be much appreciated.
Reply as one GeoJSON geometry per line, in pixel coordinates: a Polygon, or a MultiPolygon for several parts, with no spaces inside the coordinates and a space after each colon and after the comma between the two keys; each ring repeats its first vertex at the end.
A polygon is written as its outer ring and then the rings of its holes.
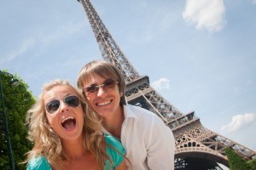
{"type": "MultiPolygon", "coordinates": [[[[61,105],[61,99],[54,99],[51,100],[48,104],[46,104],[45,109],[50,114],[54,113],[55,111],[58,111],[60,105],[61,105]]],[[[78,107],[80,104],[80,99],[77,96],[67,96],[63,99],[64,103],[71,107],[78,107]]]]}

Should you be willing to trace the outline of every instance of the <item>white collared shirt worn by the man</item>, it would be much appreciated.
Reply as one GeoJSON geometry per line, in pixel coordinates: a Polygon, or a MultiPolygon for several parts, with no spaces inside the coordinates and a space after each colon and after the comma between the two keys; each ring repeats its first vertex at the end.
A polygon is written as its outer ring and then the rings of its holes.
{"type": "MultiPolygon", "coordinates": [[[[121,142],[126,150],[127,169],[173,170],[175,139],[159,116],[134,105],[123,105],[125,121],[121,142]]],[[[104,130],[104,133],[108,133],[104,130]]]]}

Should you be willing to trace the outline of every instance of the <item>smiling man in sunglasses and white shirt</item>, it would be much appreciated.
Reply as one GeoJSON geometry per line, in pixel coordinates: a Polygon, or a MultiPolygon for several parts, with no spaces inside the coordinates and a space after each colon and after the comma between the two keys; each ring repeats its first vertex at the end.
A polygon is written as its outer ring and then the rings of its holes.
{"type": "Polygon", "coordinates": [[[125,147],[128,169],[174,169],[172,130],[160,117],[141,107],[127,105],[125,81],[119,70],[103,61],[91,61],[81,69],[78,87],[91,108],[102,118],[103,132],[125,147]]]}

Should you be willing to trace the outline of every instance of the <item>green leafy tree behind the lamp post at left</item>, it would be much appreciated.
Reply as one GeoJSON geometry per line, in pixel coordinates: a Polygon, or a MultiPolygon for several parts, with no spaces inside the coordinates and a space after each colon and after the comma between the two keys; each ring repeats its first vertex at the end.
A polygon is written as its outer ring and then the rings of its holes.
{"type": "MultiPolygon", "coordinates": [[[[7,71],[0,71],[1,82],[3,88],[4,109],[8,118],[9,124],[9,138],[12,146],[13,158],[15,161],[15,169],[26,169],[25,164],[20,162],[25,161],[25,153],[31,150],[32,144],[27,137],[26,111],[35,103],[35,98],[32,96],[32,92],[29,91],[29,87],[20,77],[15,75],[15,78],[20,81],[19,86],[11,87],[10,82],[12,75],[7,71]]],[[[1,118],[3,120],[3,108],[1,104],[1,118]]],[[[5,138],[4,122],[1,121],[0,131],[0,169],[8,170],[9,166],[9,150],[7,140],[5,138]]]]}

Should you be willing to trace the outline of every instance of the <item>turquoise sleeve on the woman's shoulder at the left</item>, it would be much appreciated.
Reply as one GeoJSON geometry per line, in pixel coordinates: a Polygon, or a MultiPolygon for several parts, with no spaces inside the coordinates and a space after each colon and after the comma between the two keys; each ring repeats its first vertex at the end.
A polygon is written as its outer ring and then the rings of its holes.
{"type": "Polygon", "coordinates": [[[28,161],[26,170],[51,170],[49,162],[45,156],[33,157],[28,161]]]}

